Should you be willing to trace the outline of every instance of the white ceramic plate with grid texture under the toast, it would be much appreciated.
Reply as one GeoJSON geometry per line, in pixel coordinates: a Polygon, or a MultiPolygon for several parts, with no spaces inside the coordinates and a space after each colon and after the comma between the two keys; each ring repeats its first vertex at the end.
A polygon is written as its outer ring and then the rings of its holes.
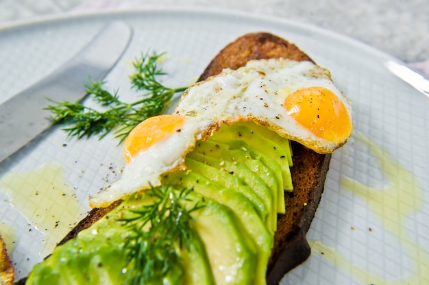
{"type": "MultiPolygon", "coordinates": [[[[317,27],[225,11],[45,18],[0,28],[0,102],[66,62],[115,19],[134,28],[129,49],[106,77],[106,88],[125,98],[133,95],[130,61],[140,53],[167,52],[164,82],[184,86],[246,32],[277,34],[330,69],[352,101],[354,135],[332,158],[308,232],[312,255],[282,284],[429,282],[429,100],[384,69],[389,55],[317,27]]],[[[88,195],[117,179],[122,166],[112,136],[78,141],[58,128],[0,164],[0,232],[18,277],[82,219],[88,195]]]]}

